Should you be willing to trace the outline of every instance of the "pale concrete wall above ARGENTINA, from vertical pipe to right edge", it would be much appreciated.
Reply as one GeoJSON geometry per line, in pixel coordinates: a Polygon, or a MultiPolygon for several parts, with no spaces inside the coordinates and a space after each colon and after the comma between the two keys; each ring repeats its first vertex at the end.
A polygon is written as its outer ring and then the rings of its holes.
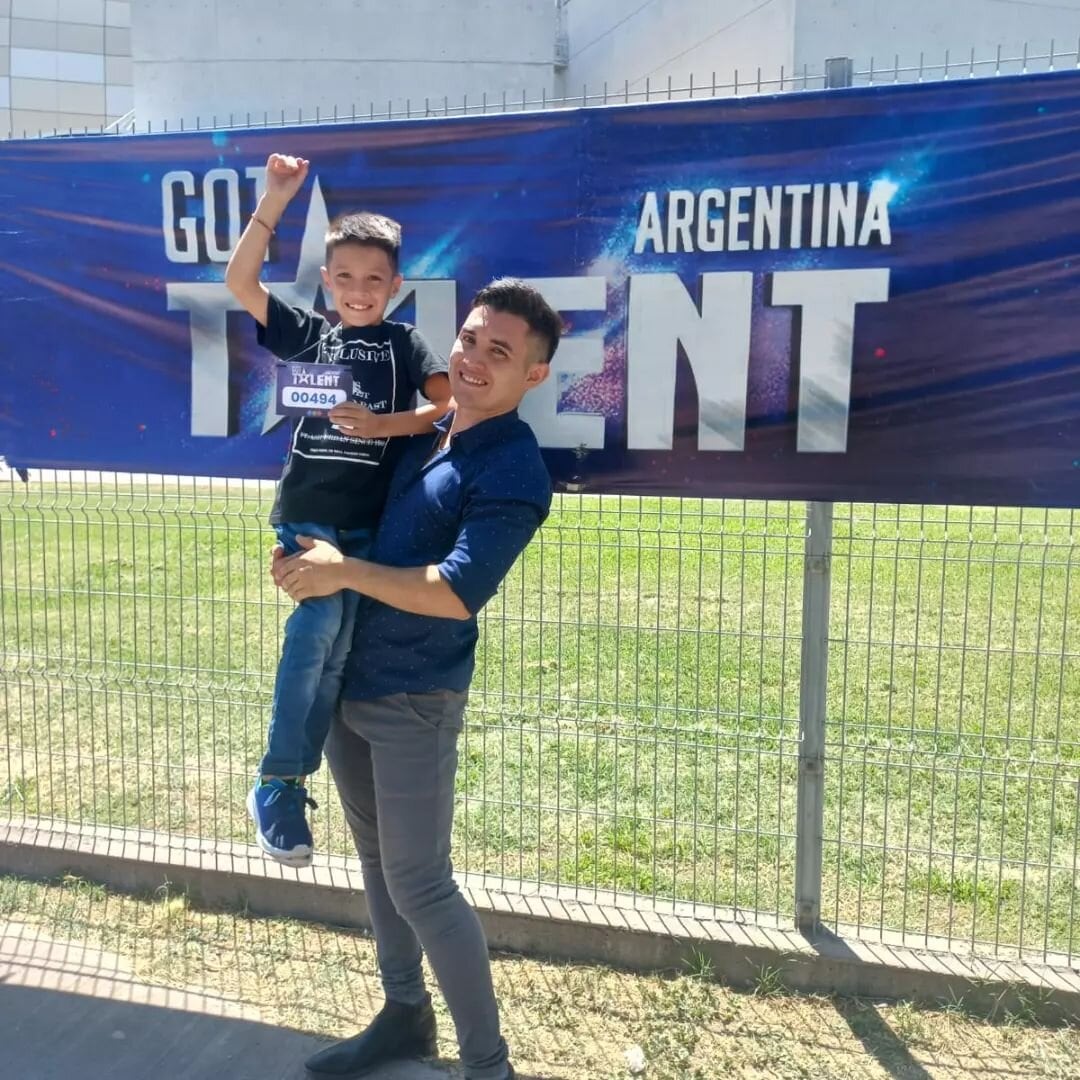
{"type": "Polygon", "coordinates": [[[660,93],[669,76],[685,86],[692,73],[702,85],[716,71],[730,84],[735,68],[748,89],[758,68],[765,80],[777,79],[781,65],[788,77],[820,76],[828,56],[851,56],[865,70],[872,56],[879,69],[896,54],[917,67],[923,53],[927,76],[941,78],[946,49],[959,73],[973,46],[976,58],[990,59],[999,44],[1003,56],[1020,56],[1025,41],[1032,54],[1045,53],[1051,39],[1075,65],[1080,0],[571,0],[565,24],[569,64],[556,86],[572,97],[584,85],[600,92],[605,81],[622,92],[629,80],[642,93],[646,77],[660,93]]]}

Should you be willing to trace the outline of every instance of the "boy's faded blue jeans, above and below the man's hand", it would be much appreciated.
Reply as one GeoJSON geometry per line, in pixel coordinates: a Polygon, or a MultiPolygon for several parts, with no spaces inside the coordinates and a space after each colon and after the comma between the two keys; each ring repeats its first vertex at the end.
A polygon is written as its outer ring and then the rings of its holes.
{"type": "MultiPolygon", "coordinates": [[[[297,536],[328,540],[335,546],[338,543],[337,529],[312,523],[279,525],[276,532],[286,555],[300,550],[297,536]]],[[[319,701],[323,671],[340,637],[342,613],[343,597],[336,593],[301,600],[285,623],[267,752],[259,766],[264,777],[306,777],[318,768],[319,755],[315,752],[312,759],[307,734],[308,717],[319,701]]],[[[325,731],[323,727],[320,750],[325,731]]]]}

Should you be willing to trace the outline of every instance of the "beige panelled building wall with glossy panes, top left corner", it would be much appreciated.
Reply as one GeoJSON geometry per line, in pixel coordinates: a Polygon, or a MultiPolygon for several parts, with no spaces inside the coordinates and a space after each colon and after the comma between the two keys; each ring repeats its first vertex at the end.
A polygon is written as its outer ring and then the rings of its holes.
{"type": "Polygon", "coordinates": [[[0,0],[0,138],[127,112],[130,25],[129,0],[0,0]]]}

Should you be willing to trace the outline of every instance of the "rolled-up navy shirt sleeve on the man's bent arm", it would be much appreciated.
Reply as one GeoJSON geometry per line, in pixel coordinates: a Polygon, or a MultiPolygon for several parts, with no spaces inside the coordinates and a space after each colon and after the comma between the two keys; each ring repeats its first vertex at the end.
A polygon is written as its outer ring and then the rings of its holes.
{"type": "Polygon", "coordinates": [[[454,550],[438,573],[470,615],[498,592],[546,512],[535,502],[480,492],[470,498],[454,550]]]}

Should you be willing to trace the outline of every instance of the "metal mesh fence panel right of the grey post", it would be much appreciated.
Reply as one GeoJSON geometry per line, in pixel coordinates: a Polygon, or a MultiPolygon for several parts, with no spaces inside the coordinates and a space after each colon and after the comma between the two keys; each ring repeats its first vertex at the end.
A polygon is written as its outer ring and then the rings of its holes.
{"type": "Polygon", "coordinates": [[[829,917],[1074,956],[1075,511],[851,507],[833,553],[829,917]]]}

